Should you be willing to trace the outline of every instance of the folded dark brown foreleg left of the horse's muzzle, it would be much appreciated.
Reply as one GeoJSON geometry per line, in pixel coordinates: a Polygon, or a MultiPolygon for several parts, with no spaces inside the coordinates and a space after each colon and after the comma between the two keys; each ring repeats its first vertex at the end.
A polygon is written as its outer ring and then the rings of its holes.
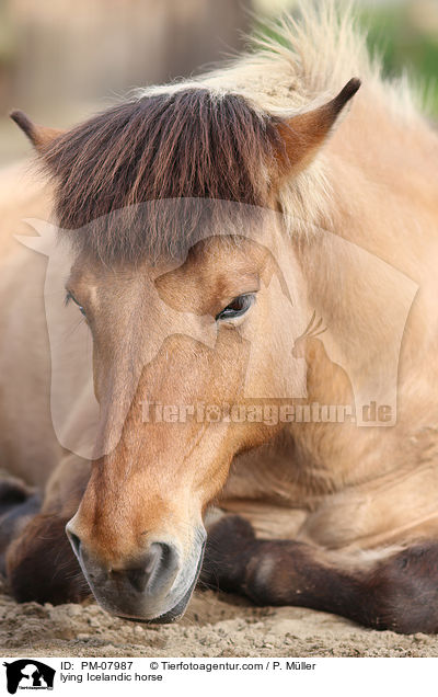
{"type": "Polygon", "coordinates": [[[41,511],[12,530],[5,571],[16,601],[57,605],[91,595],[65,533],[88,476],[88,466],[74,467],[67,458],[50,478],[41,511]]]}

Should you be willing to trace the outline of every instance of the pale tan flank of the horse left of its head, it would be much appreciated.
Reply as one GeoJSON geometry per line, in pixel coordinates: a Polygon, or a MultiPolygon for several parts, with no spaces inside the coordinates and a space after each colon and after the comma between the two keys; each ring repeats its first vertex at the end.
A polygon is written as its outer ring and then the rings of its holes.
{"type": "Polygon", "coordinates": [[[46,219],[53,201],[49,185],[30,173],[28,163],[2,172],[1,192],[0,361],[1,374],[8,376],[1,387],[1,467],[31,484],[44,487],[62,455],[50,419],[50,364],[43,299],[46,264],[18,243],[13,235],[28,235],[24,219],[46,219]],[[28,334],[23,334],[23,325],[28,334]],[[26,336],[32,336],[34,343],[32,356],[26,336]]]}

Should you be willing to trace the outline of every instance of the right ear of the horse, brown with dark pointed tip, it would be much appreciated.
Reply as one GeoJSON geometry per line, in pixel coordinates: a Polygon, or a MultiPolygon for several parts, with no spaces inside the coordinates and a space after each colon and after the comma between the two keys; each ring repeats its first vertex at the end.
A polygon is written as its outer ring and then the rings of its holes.
{"type": "Polygon", "coordinates": [[[345,104],[360,87],[351,78],[339,94],[322,106],[280,122],[277,130],[284,144],[277,157],[280,174],[303,170],[313,160],[345,104]]]}

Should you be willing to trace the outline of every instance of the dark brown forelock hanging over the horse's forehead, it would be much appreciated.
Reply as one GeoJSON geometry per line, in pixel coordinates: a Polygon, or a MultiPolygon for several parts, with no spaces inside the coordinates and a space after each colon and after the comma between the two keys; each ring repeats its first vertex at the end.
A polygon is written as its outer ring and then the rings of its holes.
{"type": "Polygon", "coordinates": [[[279,147],[275,119],[243,98],[189,89],[99,114],[55,139],[43,162],[55,181],[59,226],[76,230],[76,243],[105,261],[137,261],[177,253],[205,214],[204,204],[192,203],[182,231],[181,208],[177,224],[168,209],[158,225],[153,206],[139,204],[207,198],[264,206],[265,171],[279,147]]]}

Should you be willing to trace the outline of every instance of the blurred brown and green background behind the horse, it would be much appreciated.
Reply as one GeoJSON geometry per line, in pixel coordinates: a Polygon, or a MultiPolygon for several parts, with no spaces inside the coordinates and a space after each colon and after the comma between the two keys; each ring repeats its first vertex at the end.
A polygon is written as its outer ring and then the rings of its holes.
{"type": "MultiPolygon", "coordinates": [[[[405,69],[427,92],[429,114],[438,119],[438,0],[354,4],[384,72],[405,69]]],[[[134,87],[218,62],[239,50],[242,33],[253,24],[293,12],[295,5],[293,0],[0,0],[0,164],[28,152],[8,119],[11,108],[67,127],[134,87]]]]}

